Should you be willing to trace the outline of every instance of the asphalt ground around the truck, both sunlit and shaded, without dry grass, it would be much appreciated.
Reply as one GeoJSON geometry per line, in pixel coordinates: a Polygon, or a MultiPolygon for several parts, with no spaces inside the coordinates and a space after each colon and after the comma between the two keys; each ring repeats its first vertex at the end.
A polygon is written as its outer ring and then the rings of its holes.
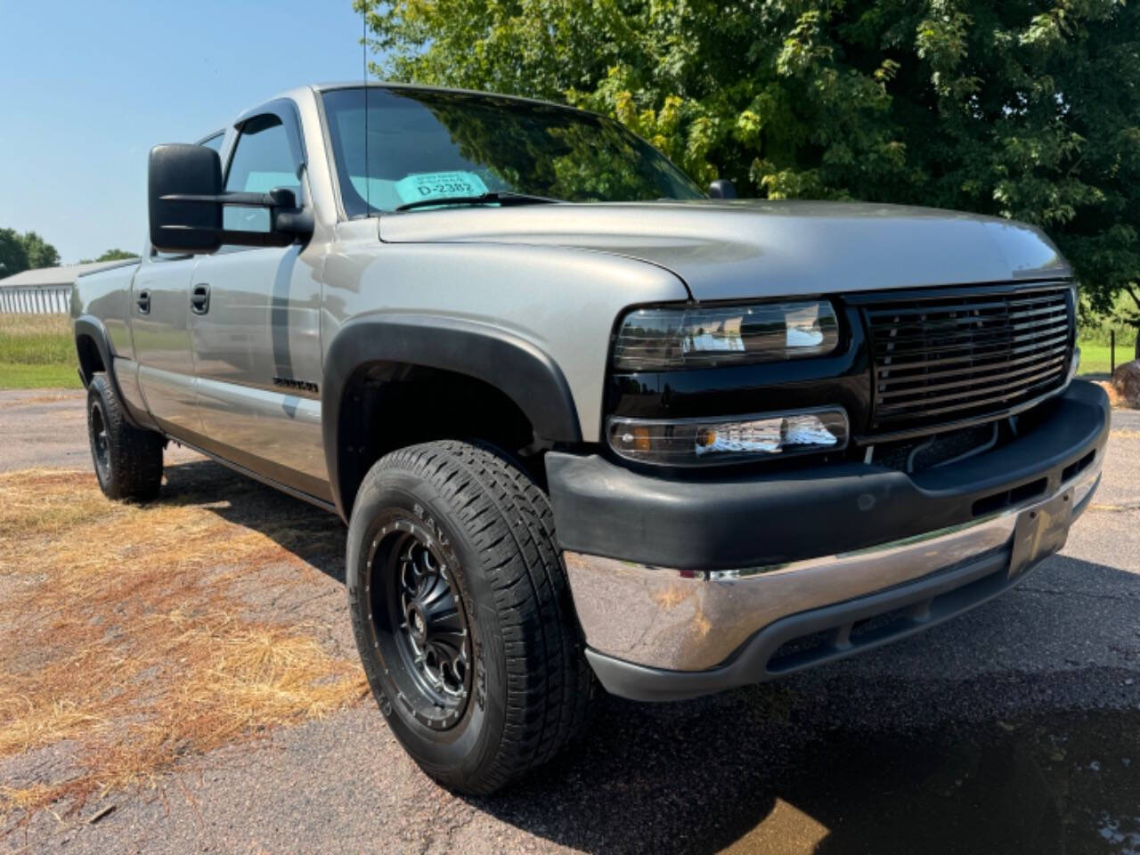
{"type": "MultiPolygon", "coordinates": [[[[81,400],[0,393],[0,469],[88,466],[81,400]]],[[[339,559],[304,557],[345,627],[339,559]]],[[[1138,734],[1140,413],[1118,412],[1064,553],[928,633],[697,701],[605,699],[580,746],[494,799],[434,785],[367,702],[41,814],[0,852],[1135,855],[1138,734]]]]}

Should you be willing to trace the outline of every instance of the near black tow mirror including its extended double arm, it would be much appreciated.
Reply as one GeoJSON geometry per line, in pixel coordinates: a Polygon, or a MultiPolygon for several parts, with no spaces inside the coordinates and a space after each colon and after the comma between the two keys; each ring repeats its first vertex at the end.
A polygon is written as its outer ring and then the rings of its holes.
{"type": "MultiPolygon", "coordinates": [[[[312,213],[299,209],[287,188],[269,193],[225,193],[221,160],[205,146],[181,144],[150,149],[147,196],[150,245],[160,252],[210,253],[222,244],[288,246],[299,235],[312,234],[312,213]],[[226,209],[266,209],[261,227],[225,227],[226,209]]],[[[237,218],[238,220],[241,218],[237,218]]]]}

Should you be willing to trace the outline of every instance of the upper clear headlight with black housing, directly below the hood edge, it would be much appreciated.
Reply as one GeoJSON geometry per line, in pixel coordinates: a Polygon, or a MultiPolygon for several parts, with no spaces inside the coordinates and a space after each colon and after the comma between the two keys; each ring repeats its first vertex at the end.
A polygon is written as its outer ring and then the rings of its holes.
{"type": "Polygon", "coordinates": [[[651,307],[621,319],[613,367],[622,372],[708,368],[823,356],[839,343],[826,300],[651,307]]]}

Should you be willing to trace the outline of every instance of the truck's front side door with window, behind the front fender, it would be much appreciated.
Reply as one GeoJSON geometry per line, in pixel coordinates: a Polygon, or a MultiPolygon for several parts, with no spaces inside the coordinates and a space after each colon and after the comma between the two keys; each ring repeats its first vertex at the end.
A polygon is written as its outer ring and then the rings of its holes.
{"type": "MultiPolygon", "coordinates": [[[[296,109],[243,116],[226,189],[308,198],[296,109]]],[[[227,230],[268,231],[269,212],[227,207],[227,230]]],[[[190,337],[207,450],[309,495],[331,497],[320,437],[320,263],[309,245],[225,246],[190,284],[190,337]]]]}

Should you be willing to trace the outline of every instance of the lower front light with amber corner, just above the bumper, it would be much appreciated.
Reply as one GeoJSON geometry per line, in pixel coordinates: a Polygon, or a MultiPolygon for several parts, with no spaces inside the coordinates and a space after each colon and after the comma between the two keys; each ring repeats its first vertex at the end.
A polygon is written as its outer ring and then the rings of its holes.
{"type": "Polygon", "coordinates": [[[847,447],[842,407],[714,418],[648,420],[612,416],[610,447],[640,463],[716,466],[773,457],[839,451],[847,447]]]}

